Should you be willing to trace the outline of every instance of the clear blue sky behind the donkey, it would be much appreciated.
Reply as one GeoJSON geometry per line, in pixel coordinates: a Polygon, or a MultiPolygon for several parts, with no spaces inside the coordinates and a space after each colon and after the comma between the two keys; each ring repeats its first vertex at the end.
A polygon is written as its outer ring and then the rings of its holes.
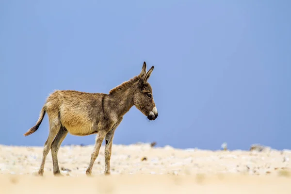
{"type": "MultiPolygon", "coordinates": [[[[108,93],[139,74],[159,117],[132,107],[114,144],[291,149],[291,1],[0,1],[0,144],[25,133],[56,89],[108,93]]],[[[67,135],[65,144],[94,144],[67,135]]]]}

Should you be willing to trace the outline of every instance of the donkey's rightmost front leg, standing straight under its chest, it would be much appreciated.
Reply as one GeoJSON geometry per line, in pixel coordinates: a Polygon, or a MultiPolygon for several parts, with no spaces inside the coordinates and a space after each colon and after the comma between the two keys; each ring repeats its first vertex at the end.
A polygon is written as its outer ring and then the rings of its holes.
{"type": "Polygon", "coordinates": [[[112,130],[110,130],[105,136],[105,175],[110,175],[110,158],[111,158],[111,150],[112,150],[112,142],[115,129],[121,123],[122,119],[120,119],[114,126],[112,130]]]}

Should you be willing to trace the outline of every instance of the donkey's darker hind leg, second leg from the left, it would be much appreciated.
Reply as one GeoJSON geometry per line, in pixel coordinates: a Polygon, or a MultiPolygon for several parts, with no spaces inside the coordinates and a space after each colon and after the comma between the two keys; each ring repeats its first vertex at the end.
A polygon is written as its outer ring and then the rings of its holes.
{"type": "Polygon", "coordinates": [[[59,162],[58,162],[58,151],[67,134],[68,134],[67,129],[65,129],[64,126],[61,126],[61,129],[59,130],[57,136],[53,140],[50,147],[52,164],[53,164],[53,174],[55,176],[58,176],[58,175],[62,176],[60,173],[59,162]]]}

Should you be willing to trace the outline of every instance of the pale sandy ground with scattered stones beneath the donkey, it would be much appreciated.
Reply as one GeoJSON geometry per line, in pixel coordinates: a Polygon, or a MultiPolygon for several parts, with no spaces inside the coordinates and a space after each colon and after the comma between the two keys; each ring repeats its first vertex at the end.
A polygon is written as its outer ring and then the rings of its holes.
{"type": "Polygon", "coordinates": [[[43,147],[0,145],[0,194],[248,193],[291,194],[291,150],[210,151],[149,144],[113,145],[111,176],[104,172],[104,146],[85,170],[93,146],[62,146],[64,177],[54,177],[49,153],[44,177],[36,177],[43,147]]]}

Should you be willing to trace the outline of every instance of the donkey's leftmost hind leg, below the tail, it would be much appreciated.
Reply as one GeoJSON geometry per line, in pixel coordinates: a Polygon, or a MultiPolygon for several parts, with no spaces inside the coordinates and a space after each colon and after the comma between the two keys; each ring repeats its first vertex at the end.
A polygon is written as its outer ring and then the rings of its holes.
{"type": "Polygon", "coordinates": [[[61,123],[60,123],[58,118],[49,120],[49,137],[48,137],[48,139],[45,143],[44,149],[43,149],[42,162],[41,162],[41,165],[40,165],[40,168],[38,171],[39,176],[43,176],[45,162],[46,162],[46,158],[47,158],[47,155],[49,153],[49,150],[50,150],[51,143],[52,143],[53,139],[55,138],[56,134],[58,133],[58,131],[60,130],[60,127],[61,127],[61,123]]]}

